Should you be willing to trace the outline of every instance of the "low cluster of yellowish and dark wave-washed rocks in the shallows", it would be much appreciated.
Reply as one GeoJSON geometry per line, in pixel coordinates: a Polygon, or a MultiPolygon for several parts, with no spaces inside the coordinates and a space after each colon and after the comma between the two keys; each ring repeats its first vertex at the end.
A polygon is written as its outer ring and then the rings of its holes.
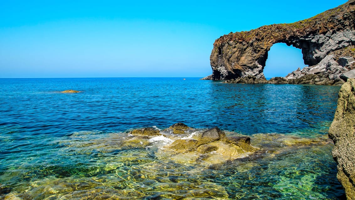
{"type": "Polygon", "coordinates": [[[211,166],[247,157],[260,149],[251,146],[250,137],[228,137],[217,127],[203,133],[191,133],[191,131],[194,130],[183,123],[173,124],[162,131],[150,127],[135,129],[130,131],[130,134],[135,137],[128,142],[133,145],[138,141],[140,144],[155,140],[168,141],[160,151],[164,154],[168,153],[171,160],[178,163],[203,162],[211,166]]]}

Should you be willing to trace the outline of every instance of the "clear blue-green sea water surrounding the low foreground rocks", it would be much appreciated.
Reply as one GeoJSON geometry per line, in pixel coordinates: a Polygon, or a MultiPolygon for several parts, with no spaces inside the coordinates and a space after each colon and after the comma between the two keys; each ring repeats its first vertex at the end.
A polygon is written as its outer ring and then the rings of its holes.
{"type": "Polygon", "coordinates": [[[328,139],[339,89],[189,77],[0,79],[0,199],[343,199],[328,139]],[[190,129],[171,134],[174,123],[190,129]],[[130,133],[145,127],[163,135],[130,133]],[[250,137],[258,150],[208,159],[168,148],[214,127],[250,137]]]}

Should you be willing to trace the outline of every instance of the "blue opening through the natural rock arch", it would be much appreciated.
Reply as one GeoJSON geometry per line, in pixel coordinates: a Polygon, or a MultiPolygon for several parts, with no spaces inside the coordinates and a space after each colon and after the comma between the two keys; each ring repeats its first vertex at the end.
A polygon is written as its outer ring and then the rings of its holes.
{"type": "Polygon", "coordinates": [[[285,77],[289,73],[303,69],[308,66],[304,64],[301,49],[288,46],[285,43],[273,44],[268,51],[268,58],[263,69],[264,76],[267,80],[272,77],[285,77]]]}

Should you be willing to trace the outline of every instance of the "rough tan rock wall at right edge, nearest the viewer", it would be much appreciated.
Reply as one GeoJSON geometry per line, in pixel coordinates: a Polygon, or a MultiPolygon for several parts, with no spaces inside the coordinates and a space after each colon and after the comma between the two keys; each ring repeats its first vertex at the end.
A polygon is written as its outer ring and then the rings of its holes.
{"type": "Polygon", "coordinates": [[[348,200],[355,199],[355,79],[349,79],[339,91],[338,107],[329,128],[334,141],[333,158],[337,162],[337,178],[348,200]]]}

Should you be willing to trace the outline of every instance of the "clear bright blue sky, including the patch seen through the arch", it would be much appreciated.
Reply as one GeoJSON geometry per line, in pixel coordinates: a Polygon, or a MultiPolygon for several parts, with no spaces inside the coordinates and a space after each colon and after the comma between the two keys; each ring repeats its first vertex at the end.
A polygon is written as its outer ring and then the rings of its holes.
{"type": "MultiPolygon", "coordinates": [[[[223,34],[303,20],[345,2],[1,1],[0,78],[204,77],[223,34]]],[[[300,50],[274,45],[264,72],[285,76],[297,67],[304,67],[300,50]]]]}

